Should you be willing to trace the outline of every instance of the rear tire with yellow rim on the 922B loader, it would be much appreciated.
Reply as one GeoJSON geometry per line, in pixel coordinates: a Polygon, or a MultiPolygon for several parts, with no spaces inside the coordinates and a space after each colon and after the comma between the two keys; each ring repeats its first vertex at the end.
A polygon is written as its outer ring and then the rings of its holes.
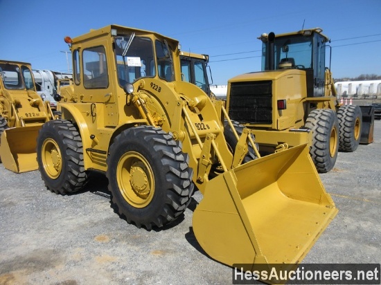
{"type": "Polygon", "coordinates": [[[48,190],[70,194],[88,181],[83,161],[82,139],[69,120],[51,120],[37,137],[37,163],[48,190]]]}

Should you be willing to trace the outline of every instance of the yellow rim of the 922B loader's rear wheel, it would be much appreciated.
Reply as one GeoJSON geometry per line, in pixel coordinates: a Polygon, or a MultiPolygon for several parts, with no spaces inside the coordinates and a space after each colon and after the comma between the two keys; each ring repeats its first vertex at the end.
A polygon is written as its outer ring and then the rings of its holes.
{"type": "Polygon", "coordinates": [[[62,172],[62,155],[60,147],[51,138],[46,138],[42,145],[42,164],[50,178],[55,179],[60,176],[62,172]]]}

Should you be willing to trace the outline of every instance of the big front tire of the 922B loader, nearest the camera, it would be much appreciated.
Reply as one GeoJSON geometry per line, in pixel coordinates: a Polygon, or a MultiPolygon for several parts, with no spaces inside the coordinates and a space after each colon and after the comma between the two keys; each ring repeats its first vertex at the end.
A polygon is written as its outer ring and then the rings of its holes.
{"type": "Polygon", "coordinates": [[[109,148],[107,178],[114,209],[151,230],[174,221],[193,194],[193,169],[181,143],[161,128],[142,126],[123,131],[109,148]]]}

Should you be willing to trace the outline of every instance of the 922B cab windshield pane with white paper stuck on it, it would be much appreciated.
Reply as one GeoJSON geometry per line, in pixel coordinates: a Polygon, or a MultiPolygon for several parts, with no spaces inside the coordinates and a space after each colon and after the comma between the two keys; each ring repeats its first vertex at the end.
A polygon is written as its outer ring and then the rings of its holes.
{"type": "Polygon", "coordinates": [[[151,39],[132,34],[115,37],[114,42],[118,82],[121,86],[141,77],[154,77],[156,69],[151,39]]]}

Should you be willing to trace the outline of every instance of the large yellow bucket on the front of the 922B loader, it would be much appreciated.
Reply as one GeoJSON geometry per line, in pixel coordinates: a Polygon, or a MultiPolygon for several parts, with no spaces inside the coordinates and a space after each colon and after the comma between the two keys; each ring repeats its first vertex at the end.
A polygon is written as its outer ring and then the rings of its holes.
{"type": "Polygon", "coordinates": [[[295,265],[337,212],[300,145],[209,181],[193,232],[210,257],[229,266],[295,265]]]}

